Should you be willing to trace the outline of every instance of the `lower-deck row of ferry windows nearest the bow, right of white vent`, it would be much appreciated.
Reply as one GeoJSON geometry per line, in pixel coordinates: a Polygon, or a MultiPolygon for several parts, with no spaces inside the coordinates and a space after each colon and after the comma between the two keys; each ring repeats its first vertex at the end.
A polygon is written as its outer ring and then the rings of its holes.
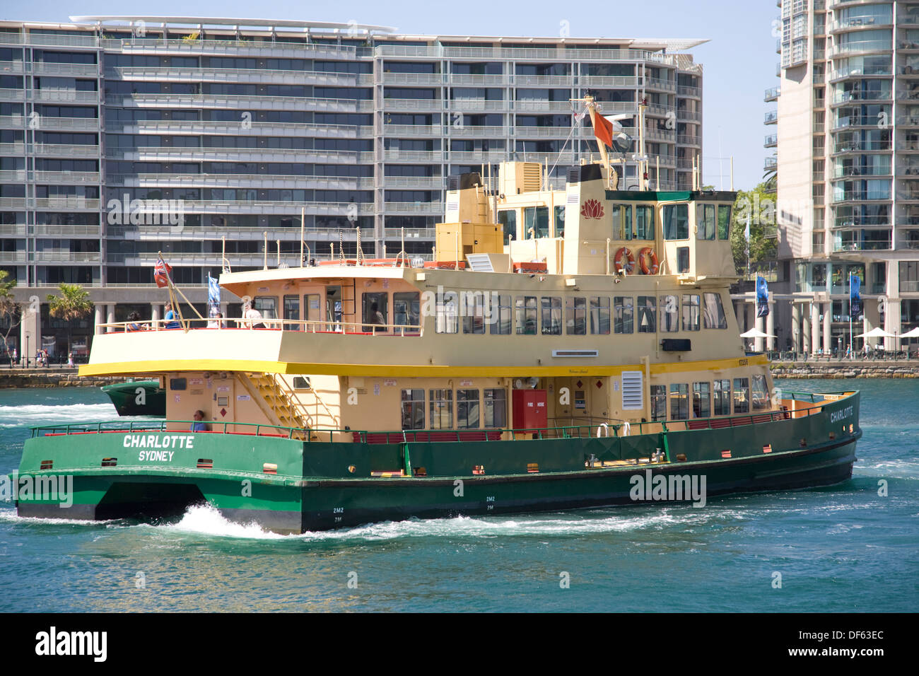
{"type": "Polygon", "coordinates": [[[652,420],[688,420],[711,418],[743,413],[766,411],[769,408],[769,390],[765,375],[750,378],[716,380],[711,383],[693,383],[690,399],[688,383],[651,386],[652,420]],[[752,387],[751,387],[752,382],[752,387]],[[667,416],[667,390],[670,391],[670,415],[667,416]]]}

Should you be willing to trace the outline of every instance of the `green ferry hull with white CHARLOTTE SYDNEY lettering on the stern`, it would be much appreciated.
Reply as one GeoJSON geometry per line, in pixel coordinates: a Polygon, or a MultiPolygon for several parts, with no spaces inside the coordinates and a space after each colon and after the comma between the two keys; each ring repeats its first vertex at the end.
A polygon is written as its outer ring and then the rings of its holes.
{"type": "Polygon", "coordinates": [[[698,504],[718,495],[843,482],[852,475],[860,436],[857,393],[802,418],[629,437],[370,444],[72,431],[28,440],[19,475],[72,475],[73,504],[62,506],[60,495],[20,494],[17,506],[22,516],[111,519],[180,513],[207,501],[233,521],[301,533],[411,517],[698,504]],[[625,461],[659,448],[671,462],[585,466],[592,455],[625,461]],[[731,457],[723,457],[728,450],[731,457]],[[41,470],[42,461],[51,468],[41,470]],[[267,474],[265,464],[269,471],[277,465],[277,474],[267,474]],[[539,471],[528,471],[534,465],[539,471]],[[485,474],[473,474],[475,466],[485,474]],[[406,467],[415,475],[373,475],[406,467]],[[420,467],[425,476],[417,475],[420,467]],[[687,495],[693,477],[704,487],[701,499],[687,495]],[[662,482],[685,490],[656,490],[662,482]]]}

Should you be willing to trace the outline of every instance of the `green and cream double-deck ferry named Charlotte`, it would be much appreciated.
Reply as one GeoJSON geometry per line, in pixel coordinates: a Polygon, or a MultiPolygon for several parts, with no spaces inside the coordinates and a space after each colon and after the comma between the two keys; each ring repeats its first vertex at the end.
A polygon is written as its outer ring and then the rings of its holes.
{"type": "Polygon", "coordinates": [[[18,513],[208,502],[301,533],[849,479],[858,393],[779,392],[744,352],[734,193],[651,189],[646,164],[620,189],[606,145],[563,189],[527,162],[502,163],[497,189],[448,178],[432,261],[358,247],[226,272],[262,321],[106,325],[81,375],[158,379],[165,419],[32,430],[19,482],[73,476],[73,494],[20,490],[18,513]]]}

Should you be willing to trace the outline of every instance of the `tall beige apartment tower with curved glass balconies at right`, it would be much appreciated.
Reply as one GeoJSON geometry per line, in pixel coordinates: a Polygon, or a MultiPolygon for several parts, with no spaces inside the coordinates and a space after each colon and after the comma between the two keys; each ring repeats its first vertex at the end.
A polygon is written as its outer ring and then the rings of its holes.
{"type": "Polygon", "coordinates": [[[854,333],[902,334],[919,324],[919,2],[777,6],[777,224],[792,269],[779,346],[845,349],[853,273],[854,333]]]}

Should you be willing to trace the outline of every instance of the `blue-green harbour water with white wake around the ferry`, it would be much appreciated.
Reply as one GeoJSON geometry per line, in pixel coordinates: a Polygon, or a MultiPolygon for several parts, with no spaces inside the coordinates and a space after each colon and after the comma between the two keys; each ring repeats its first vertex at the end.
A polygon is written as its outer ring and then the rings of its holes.
{"type": "MultiPolygon", "coordinates": [[[[154,526],[19,519],[0,503],[0,611],[914,611],[919,381],[845,386],[863,392],[851,481],[715,498],[702,509],[280,536],[207,508],[154,526]]],[[[115,417],[97,389],[0,391],[0,473],[17,466],[29,425],[115,417]]]]}

